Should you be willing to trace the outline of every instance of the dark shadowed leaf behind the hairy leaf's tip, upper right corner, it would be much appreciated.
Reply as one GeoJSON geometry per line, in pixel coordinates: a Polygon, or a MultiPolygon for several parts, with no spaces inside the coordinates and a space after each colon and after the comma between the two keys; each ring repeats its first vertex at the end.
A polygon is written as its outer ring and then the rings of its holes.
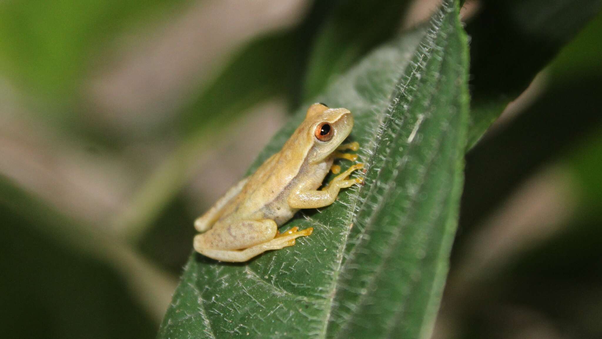
{"type": "Polygon", "coordinates": [[[486,0],[467,26],[471,36],[473,147],[559,49],[599,13],[600,0],[486,0]]]}

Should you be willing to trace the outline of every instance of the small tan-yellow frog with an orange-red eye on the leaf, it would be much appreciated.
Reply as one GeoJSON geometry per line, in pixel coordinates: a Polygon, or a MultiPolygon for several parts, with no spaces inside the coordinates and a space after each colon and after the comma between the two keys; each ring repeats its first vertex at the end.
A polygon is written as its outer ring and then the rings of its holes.
{"type": "Polygon", "coordinates": [[[265,160],[255,173],[238,182],[209,210],[194,221],[196,252],[219,261],[244,262],[265,251],[295,245],[297,237],[309,236],[313,228],[285,224],[301,209],[334,203],[341,189],[363,183],[350,175],[364,168],[354,163],[340,173],[334,160],[355,161],[358,142],[343,144],[353,128],[349,109],[309,106],[303,122],[280,151],[265,160]],[[326,175],[340,173],[323,185],[326,175]]]}

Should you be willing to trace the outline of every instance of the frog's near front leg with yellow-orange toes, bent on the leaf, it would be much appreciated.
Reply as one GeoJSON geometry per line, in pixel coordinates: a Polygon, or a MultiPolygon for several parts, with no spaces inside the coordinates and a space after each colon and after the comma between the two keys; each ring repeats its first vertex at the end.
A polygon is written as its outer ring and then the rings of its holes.
{"type": "Polygon", "coordinates": [[[364,168],[363,163],[356,163],[350,166],[346,171],[336,176],[335,179],[332,179],[332,182],[321,191],[306,189],[303,185],[299,186],[299,188],[289,195],[288,205],[294,209],[314,209],[334,203],[341,188],[362,182],[362,178],[348,178],[353,171],[361,168],[364,168]]]}

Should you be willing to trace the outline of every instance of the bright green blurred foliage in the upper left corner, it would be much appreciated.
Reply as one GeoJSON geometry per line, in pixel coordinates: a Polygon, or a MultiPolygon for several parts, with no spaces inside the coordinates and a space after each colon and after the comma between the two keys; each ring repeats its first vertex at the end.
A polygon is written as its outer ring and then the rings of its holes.
{"type": "Polygon", "coordinates": [[[82,70],[99,47],[126,26],[161,17],[177,5],[162,0],[2,1],[0,73],[45,99],[73,100],[85,76],[82,70]]]}

